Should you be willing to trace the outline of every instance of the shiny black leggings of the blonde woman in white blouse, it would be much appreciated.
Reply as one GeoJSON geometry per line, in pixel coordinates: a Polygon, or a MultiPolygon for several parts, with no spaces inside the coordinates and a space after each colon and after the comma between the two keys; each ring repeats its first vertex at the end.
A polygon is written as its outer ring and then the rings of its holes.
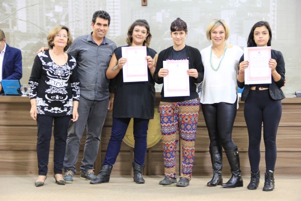
{"type": "Polygon", "coordinates": [[[223,146],[224,150],[236,148],[232,140],[232,129],[237,111],[234,104],[201,104],[210,138],[210,147],[223,146]]]}

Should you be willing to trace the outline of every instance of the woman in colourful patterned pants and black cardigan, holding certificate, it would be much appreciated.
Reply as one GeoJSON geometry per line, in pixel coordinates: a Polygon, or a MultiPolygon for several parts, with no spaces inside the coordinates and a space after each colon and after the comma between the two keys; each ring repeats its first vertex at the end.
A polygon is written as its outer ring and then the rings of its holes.
{"type": "Polygon", "coordinates": [[[199,99],[196,85],[201,83],[204,76],[204,67],[200,51],[185,44],[188,30],[187,24],[177,18],[171,24],[171,37],[174,45],[161,51],[158,56],[154,79],[158,84],[164,82],[169,70],[164,68],[166,60],[188,60],[189,70],[189,95],[167,97],[164,87],[161,91],[160,118],[162,145],[164,154],[165,178],[159,182],[161,185],[177,183],[177,186],[189,185],[192,175],[193,161],[195,156],[195,139],[199,118],[199,99]],[[179,137],[182,144],[182,170],[181,177],[176,178],[176,152],[179,137]]]}

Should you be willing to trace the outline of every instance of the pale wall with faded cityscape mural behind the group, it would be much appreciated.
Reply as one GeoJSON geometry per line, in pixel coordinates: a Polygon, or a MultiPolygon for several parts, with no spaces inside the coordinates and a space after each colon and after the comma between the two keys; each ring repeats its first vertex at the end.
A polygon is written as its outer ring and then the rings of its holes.
{"type": "MultiPolygon", "coordinates": [[[[271,25],[272,49],[282,52],[286,68],[286,96],[301,90],[301,39],[297,37],[301,21],[299,1],[284,0],[3,0],[0,3],[0,28],[6,33],[9,45],[22,50],[23,78],[27,83],[36,52],[47,46],[49,30],[56,25],[69,27],[74,38],[92,31],[91,19],[96,10],[111,16],[107,37],[118,46],[125,45],[128,26],[137,19],[145,19],[153,38],[150,47],[158,53],[173,44],[170,24],[177,17],[188,24],[187,45],[199,50],[210,45],[206,28],[216,18],[224,19],[230,28],[229,43],[246,46],[252,25],[260,20],[271,25]],[[293,40],[292,40],[293,39],[293,40]],[[295,47],[295,48],[291,48],[295,47]]],[[[160,91],[160,85],[156,90],[160,91]]]]}

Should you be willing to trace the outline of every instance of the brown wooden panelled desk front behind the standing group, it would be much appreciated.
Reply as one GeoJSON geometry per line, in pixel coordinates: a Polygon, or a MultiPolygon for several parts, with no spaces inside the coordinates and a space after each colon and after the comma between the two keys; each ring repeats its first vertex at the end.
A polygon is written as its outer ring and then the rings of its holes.
{"type": "MultiPolygon", "coordinates": [[[[160,95],[156,95],[156,105],[160,95]]],[[[248,160],[248,135],[243,116],[244,103],[239,102],[239,109],[233,128],[233,140],[240,150],[240,161],[243,175],[248,176],[250,167],[248,160]]],[[[37,125],[30,118],[30,99],[22,96],[0,96],[0,174],[37,174],[37,125]]],[[[301,175],[301,98],[285,98],[282,100],[282,118],[277,133],[277,161],[275,174],[301,175]]],[[[112,126],[112,113],[108,113],[101,136],[101,146],[96,161],[98,172],[101,161],[105,156],[112,126]]],[[[85,135],[81,141],[79,161],[76,164],[79,173],[80,161],[83,154],[85,135]]],[[[53,173],[53,141],[49,157],[49,174],[53,173]]],[[[179,147],[178,147],[179,149],[179,147]]],[[[202,111],[200,111],[196,155],[193,175],[212,175],[209,155],[209,138],[202,111]]],[[[265,171],[264,144],[261,143],[260,170],[265,171]]],[[[177,154],[179,159],[179,154],[177,154]]],[[[132,149],[125,143],[113,166],[112,174],[130,175],[132,149]]],[[[177,174],[180,163],[177,160],[177,174]]],[[[164,175],[162,145],[159,142],[147,150],[145,174],[164,175]]],[[[224,155],[223,174],[229,175],[230,168],[224,155]]]]}

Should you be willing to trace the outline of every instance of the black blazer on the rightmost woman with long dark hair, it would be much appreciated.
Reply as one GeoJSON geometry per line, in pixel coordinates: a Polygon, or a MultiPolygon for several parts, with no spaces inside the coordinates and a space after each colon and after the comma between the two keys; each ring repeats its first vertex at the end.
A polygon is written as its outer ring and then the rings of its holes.
{"type": "MultiPolygon", "coordinates": [[[[239,63],[244,60],[243,56],[244,55],[241,56],[239,63]]],[[[269,84],[268,90],[269,90],[270,96],[274,100],[281,100],[281,99],[285,98],[282,90],[280,89],[284,85],[285,63],[284,63],[282,53],[280,51],[271,50],[271,58],[276,60],[276,62],[277,62],[276,71],[280,74],[281,78],[277,82],[275,82],[273,80],[273,78],[271,78],[272,83],[269,84]]],[[[242,101],[244,101],[249,94],[250,86],[248,84],[245,84],[244,82],[240,82],[238,80],[237,80],[237,85],[239,88],[244,87],[242,94],[241,94],[241,98],[240,98],[242,101]]]]}

